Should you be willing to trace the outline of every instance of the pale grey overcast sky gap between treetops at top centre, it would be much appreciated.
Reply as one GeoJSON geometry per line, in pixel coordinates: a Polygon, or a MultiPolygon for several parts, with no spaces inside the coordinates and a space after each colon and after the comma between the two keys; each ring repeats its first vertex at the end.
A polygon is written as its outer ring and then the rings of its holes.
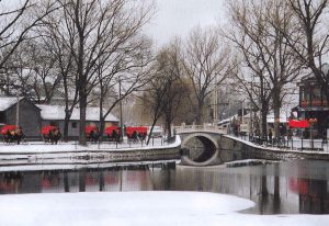
{"type": "Polygon", "coordinates": [[[225,0],[156,0],[157,11],[146,27],[161,46],[173,36],[185,36],[196,25],[216,25],[225,20],[225,0]]]}

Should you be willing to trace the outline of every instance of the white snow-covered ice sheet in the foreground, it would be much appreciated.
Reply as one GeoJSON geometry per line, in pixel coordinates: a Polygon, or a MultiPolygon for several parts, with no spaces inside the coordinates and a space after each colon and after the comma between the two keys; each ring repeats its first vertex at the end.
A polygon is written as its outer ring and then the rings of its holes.
{"type": "Polygon", "coordinates": [[[1,226],[325,226],[329,215],[252,215],[249,200],[201,192],[3,195],[1,226]]]}

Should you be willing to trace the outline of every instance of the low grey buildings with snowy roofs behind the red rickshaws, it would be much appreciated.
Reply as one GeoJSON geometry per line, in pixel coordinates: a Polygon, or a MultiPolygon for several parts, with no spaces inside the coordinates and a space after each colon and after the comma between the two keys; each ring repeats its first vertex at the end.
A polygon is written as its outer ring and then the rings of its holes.
{"type": "MultiPolygon", "coordinates": [[[[100,109],[87,108],[87,125],[100,127],[100,109]]],[[[4,124],[19,125],[27,137],[39,137],[39,131],[45,125],[57,125],[64,131],[65,108],[60,105],[34,104],[26,98],[0,97],[0,127],[4,124]],[[19,103],[19,105],[18,105],[19,103]],[[16,114],[19,112],[19,114],[16,114]],[[16,120],[19,122],[16,122],[16,120]]],[[[69,121],[68,135],[79,136],[80,111],[75,108],[69,121]]],[[[118,120],[113,114],[105,118],[105,126],[117,125],[118,120]]]]}

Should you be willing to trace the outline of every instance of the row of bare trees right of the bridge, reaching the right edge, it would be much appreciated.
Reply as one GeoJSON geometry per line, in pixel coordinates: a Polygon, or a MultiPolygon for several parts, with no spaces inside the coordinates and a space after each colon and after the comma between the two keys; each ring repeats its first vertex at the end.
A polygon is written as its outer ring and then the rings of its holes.
{"type": "MultiPolygon", "coordinates": [[[[266,115],[280,109],[292,82],[314,74],[329,98],[324,57],[328,54],[327,0],[237,0],[228,2],[230,26],[223,33],[235,46],[239,89],[261,112],[261,135],[266,134],[266,115]]],[[[329,99],[328,99],[329,100],[329,99]]],[[[279,136],[279,121],[274,123],[279,136]]]]}

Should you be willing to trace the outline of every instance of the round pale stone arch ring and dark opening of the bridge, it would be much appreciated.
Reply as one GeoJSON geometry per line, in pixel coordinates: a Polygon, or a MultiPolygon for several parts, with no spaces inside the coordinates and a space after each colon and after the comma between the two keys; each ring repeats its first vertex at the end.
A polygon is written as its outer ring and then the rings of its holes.
{"type": "Polygon", "coordinates": [[[216,138],[214,138],[212,135],[207,134],[207,133],[192,133],[186,135],[183,139],[182,139],[182,148],[188,148],[188,143],[193,139],[196,138],[198,139],[203,146],[204,149],[198,152],[195,156],[191,155],[188,157],[185,156],[183,158],[183,160],[191,166],[208,166],[212,165],[213,162],[218,162],[219,159],[219,145],[216,138]]]}

